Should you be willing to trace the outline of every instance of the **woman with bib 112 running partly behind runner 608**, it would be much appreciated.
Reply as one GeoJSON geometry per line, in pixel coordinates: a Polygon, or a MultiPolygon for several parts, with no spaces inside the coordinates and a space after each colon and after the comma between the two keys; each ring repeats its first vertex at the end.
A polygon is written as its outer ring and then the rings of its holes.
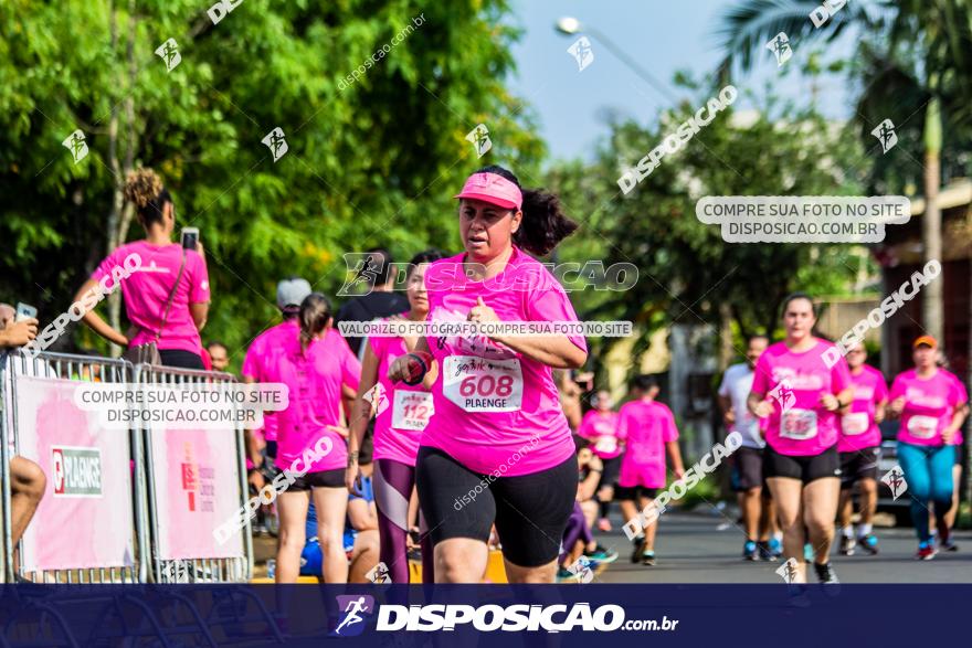
{"type": "MultiPolygon", "coordinates": [[[[424,321],[429,315],[425,293],[425,269],[444,255],[430,249],[415,255],[409,264],[405,279],[411,310],[399,320],[424,321]]],[[[391,318],[394,319],[394,318],[391,318]]],[[[409,502],[415,487],[415,456],[422,431],[434,413],[432,393],[424,385],[406,385],[388,379],[388,369],[395,358],[415,349],[415,337],[371,337],[364,347],[361,383],[358,385],[357,413],[351,421],[348,437],[348,468],[345,486],[356,488],[359,475],[358,448],[364,439],[372,408],[374,418],[374,503],[378,508],[379,560],[389,570],[392,583],[409,582],[409,502]],[[377,389],[376,389],[377,387],[377,389]]],[[[431,582],[432,546],[423,538],[423,581],[431,582]]]]}

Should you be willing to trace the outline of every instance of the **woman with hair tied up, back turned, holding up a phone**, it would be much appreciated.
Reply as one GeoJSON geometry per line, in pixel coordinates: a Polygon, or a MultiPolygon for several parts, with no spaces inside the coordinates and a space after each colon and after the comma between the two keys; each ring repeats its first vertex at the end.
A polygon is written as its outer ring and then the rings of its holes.
{"type": "Polygon", "coordinates": [[[131,329],[123,334],[93,308],[83,321],[109,342],[130,352],[146,351],[145,361],[155,346],[165,365],[203,369],[199,332],[205,326],[210,290],[202,244],[197,241],[194,249],[184,249],[172,243],[176,206],[151,169],[128,174],[125,200],[135,208],[145,238],[115,248],[78,289],[75,301],[89,290],[113,293],[120,284],[131,329]]]}

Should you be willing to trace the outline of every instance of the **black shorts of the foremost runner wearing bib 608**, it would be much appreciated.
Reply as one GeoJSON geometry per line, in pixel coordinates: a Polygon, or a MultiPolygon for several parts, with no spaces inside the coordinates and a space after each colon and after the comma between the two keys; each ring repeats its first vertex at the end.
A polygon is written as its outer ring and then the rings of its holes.
{"type": "Polygon", "coordinates": [[[451,538],[486,542],[495,523],[503,556],[520,567],[538,567],[560,553],[577,498],[577,458],[530,475],[494,477],[422,446],[415,485],[433,543],[451,538]]]}

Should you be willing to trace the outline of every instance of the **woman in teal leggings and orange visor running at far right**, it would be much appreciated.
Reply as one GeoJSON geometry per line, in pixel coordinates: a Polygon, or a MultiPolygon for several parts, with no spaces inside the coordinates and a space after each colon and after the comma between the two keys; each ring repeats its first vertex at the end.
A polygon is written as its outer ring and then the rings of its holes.
{"type": "MultiPolygon", "coordinates": [[[[918,533],[919,560],[934,557],[928,524],[928,506],[948,511],[952,506],[952,466],[955,433],[965,419],[968,397],[961,384],[936,367],[938,342],[921,336],[912,344],[915,369],[899,374],[891,385],[890,412],[901,418],[898,428],[898,460],[911,497],[911,520],[918,533]]],[[[944,516],[938,517],[939,538],[949,542],[944,516]]]]}

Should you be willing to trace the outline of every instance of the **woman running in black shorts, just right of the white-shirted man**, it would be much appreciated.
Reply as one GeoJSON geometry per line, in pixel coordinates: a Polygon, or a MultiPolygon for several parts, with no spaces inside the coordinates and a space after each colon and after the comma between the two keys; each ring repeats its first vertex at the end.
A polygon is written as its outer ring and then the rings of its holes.
{"type": "Polygon", "coordinates": [[[753,415],[769,417],[763,472],[783,527],[783,553],[797,564],[790,581],[795,585],[806,583],[804,528],[817,578],[838,583],[830,563],[841,496],[838,412],[854,397],[847,362],[813,334],[815,325],[809,295],[794,293],[783,301],[786,339],[760,355],[747,400],[753,415]]]}

